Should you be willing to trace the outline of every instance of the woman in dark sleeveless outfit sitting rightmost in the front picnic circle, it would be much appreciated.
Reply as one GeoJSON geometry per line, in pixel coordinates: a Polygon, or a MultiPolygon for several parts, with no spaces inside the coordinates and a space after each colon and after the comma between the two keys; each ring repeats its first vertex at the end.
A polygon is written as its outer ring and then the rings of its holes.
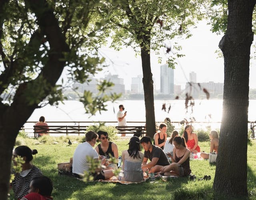
{"type": "Polygon", "coordinates": [[[161,168],[164,176],[188,176],[191,173],[189,156],[190,150],[186,148],[185,138],[176,136],[173,140],[172,164],[161,168]]]}

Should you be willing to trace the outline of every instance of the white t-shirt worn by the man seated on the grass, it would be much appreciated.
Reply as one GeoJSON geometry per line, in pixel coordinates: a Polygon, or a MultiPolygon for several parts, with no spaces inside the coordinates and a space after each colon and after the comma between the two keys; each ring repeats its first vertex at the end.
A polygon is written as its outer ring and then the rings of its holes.
{"type": "Polygon", "coordinates": [[[84,171],[88,171],[90,166],[86,159],[87,156],[93,159],[99,158],[96,150],[88,142],[78,144],[73,156],[73,173],[82,175],[84,171]]]}

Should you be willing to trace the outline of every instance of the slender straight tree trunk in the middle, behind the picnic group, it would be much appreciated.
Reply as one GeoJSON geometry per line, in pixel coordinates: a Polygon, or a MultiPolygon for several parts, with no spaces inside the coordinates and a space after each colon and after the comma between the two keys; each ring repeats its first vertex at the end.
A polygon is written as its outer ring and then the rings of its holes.
{"type": "Polygon", "coordinates": [[[147,136],[154,137],[156,133],[156,120],[154,110],[154,88],[150,67],[150,50],[141,47],[141,60],[143,71],[144,101],[146,108],[146,132],[147,136]]]}

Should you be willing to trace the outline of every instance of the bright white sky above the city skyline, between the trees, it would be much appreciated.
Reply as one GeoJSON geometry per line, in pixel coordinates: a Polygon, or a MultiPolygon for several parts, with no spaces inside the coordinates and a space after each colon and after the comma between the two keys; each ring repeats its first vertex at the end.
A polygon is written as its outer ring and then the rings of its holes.
{"type": "MultiPolygon", "coordinates": [[[[178,58],[178,66],[174,70],[174,84],[181,85],[185,88],[186,82],[189,80],[189,73],[195,72],[197,82],[224,82],[224,59],[217,58],[215,53],[219,50],[218,44],[222,35],[217,35],[210,31],[210,26],[205,21],[197,24],[197,28],[191,29],[192,37],[179,40],[182,45],[180,53],[186,56],[178,58]]],[[[176,40],[177,41],[177,40],[176,40]]],[[[168,41],[172,44],[173,41],[168,41]]],[[[104,77],[104,74],[118,74],[119,78],[124,78],[125,89],[130,90],[132,77],[142,74],[141,58],[136,57],[132,48],[124,47],[120,51],[115,51],[108,47],[102,47],[100,52],[106,58],[109,66],[96,75],[96,78],[104,77]],[[110,62],[111,60],[111,62],[110,62]]],[[[251,51],[252,52],[252,51],[251,51]]],[[[157,56],[153,53],[151,56],[151,70],[156,83],[156,89],[160,89],[160,66],[166,63],[168,54],[166,48],[160,50],[162,55],[162,63],[158,63],[157,56]]],[[[256,72],[255,64],[250,66],[250,88],[256,88],[254,74],[256,72]]]]}

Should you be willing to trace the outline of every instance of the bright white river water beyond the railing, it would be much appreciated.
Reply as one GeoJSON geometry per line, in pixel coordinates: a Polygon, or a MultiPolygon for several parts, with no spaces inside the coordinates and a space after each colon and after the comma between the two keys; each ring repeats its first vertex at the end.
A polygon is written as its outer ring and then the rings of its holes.
{"type": "MultiPolygon", "coordinates": [[[[144,100],[120,100],[109,102],[107,111],[96,113],[95,116],[85,114],[83,104],[78,100],[67,100],[64,104],[56,106],[44,106],[34,110],[28,121],[38,121],[40,116],[45,116],[48,121],[116,121],[118,105],[123,104],[127,111],[126,121],[146,121],[144,100]]],[[[155,100],[154,110],[156,122],[161,122],[169,117],[172,122],[181,121],[184,118],[194,117],[197,122],[220,122],[222,118],[222,100],[195,100],[193,110],[185,109],[185,100],[155,100]],[[162,110],[162,104],[166,104],[166,112],[162,110]],[[168,108],[170,112],[168,113],[168,108]]],[[[250,100],[248,120],[256,120],[256,100],[250,100]]]]}

